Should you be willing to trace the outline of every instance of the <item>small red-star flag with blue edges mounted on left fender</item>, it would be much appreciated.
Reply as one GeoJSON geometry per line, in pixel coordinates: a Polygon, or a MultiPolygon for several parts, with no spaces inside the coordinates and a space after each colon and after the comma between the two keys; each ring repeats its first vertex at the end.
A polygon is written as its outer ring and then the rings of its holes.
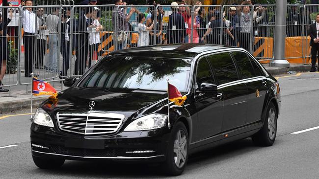
{"type": "Polygon", "coordinates": [[[52,95],[57,96],[56,90],[48,83],[36,78],[32,79],[32,94],[34,95],[52,95]]]}

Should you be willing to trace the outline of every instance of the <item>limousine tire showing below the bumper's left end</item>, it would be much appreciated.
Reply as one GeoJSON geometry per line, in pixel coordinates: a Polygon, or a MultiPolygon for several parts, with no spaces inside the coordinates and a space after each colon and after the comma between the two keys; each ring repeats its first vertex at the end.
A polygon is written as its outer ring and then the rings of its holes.
{"type": "Polygon", "coordinates": [[[41,169],[54,169],[63,165],[65,159],[63,158],[47,158],[32,156],[34,164],[41,169]]]}

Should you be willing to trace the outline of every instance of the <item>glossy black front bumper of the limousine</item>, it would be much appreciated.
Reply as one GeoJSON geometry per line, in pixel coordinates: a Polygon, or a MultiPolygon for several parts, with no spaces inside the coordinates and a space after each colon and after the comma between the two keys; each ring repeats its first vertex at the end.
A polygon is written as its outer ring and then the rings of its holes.
{"type": "Polygon", "coordinates": [[[160,162],[166,159],[168,133],[164,129],[84,136],[31,125],[31,152],[35,157],[71,160],[125,160],[160,162]]]}

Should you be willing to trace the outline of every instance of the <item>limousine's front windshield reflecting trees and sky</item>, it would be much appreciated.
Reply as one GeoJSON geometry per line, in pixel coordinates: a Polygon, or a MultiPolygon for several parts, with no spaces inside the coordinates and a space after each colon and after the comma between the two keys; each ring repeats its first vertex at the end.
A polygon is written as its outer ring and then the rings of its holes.
{"type": "Polygon", "coordinates": [[[189,72],[189,60],[115,56],[99,62],[78,87],[166,91],[169,79],[178,90],[186,91],[189,72]]]}

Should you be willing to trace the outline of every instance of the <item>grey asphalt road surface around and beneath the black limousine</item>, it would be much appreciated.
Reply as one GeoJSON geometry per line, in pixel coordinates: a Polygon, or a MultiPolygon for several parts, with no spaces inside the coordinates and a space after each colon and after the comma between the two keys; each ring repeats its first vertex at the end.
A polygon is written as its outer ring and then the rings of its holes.
{"type": "MultiPolygon", "coordinates": [[[[291,133],[319,126],[319,73],[278,80],[282,105],[273,146],[256,147],[247,138],[200,152],[189,157],[185,172],[175,178],[318,179],[319,129],[291,133]]],[[[67,160],[59,170],[38,169],[31,157],[29,127],[29,115],[0,116],[1,179],[166,178],[158,166],[146,164],[67,160]],[[1,148],[8,145],[17,146],[1,148]]]]}

